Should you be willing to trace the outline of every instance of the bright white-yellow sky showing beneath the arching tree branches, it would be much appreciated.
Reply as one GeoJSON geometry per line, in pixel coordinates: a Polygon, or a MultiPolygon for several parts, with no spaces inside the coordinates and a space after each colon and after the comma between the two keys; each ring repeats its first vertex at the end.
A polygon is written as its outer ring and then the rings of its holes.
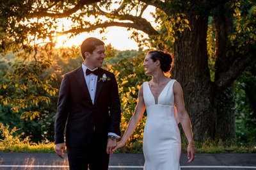
{"type": "MultiPolygon", "coordinates": [[[[142,17],[152,22],[154,26],[154,18],[150,15],[150,12],[155,12],[155,8],[153,6],[148,6],[147,10],[143,13],[142,17]]],[[[58,36],[56,47],[70,47],[72,45],[81,45],[84,39],[93,36],[95,38],[99,38],[102,40],[102,37],[105,37],[104,43],[108,45],[111,43],[115,49],[118,50],[138,50],[138,44],[129,38],[131,36],[132,31],[127,31],[125,27],[108,27],[105,29],[106,33],[102,33],[100,35],[99,29],[94,31],[93,33],[82,33],[74,38],[67,39],[66,35],[58,36]]],[[[147,35],[145,35],[147,37],[147,35]]]]}

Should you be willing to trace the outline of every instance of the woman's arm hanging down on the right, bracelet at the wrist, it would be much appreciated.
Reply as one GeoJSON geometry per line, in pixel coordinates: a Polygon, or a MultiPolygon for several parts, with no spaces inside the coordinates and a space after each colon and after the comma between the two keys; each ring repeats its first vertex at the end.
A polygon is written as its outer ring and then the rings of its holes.
{"type": "Polygon", "coordinates": [[[188,162],[192,162],[195,158],[195,142],[193,140],[193,132],[188,112],[185,109],[183,91],[179,82],[173,84],[174,101],[177,108],[180,124],[188,139],[188,162]]]}

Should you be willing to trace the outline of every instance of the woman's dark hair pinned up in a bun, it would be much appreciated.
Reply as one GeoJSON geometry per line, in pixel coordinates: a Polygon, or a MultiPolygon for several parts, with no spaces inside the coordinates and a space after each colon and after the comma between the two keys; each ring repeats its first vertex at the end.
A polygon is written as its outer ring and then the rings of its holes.
{"type": "Polygon", "coordinates": [[[148,52],[150,58],[156,62],[160,61],[160,68],[164,73],[169,72],[172,68],[173,57],[169,52],[163,52],[161,50],[152,50],[148,52]]]}

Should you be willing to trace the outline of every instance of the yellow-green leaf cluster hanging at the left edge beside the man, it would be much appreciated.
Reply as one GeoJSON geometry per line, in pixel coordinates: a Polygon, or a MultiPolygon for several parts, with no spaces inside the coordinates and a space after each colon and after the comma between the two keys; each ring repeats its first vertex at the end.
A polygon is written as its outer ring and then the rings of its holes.
{"type": "Polygon", "coordinates": [[[44,90],[44,93],[56,95],[58,89],[52,88],[50,81],[56,80],[56,74],[51,73],[42,77],[42,73],[50,66],[49,62],[32,61],[26,63],[13,63],[11,68],[5,68],[1,73],[0,89],[3,95],[0,102],[3,105],[12,105],[12,111],[19,112],[20,118],[33,120],[39,117],[38,104],[45,102],[49,104],[49,97],[41,95],[36,89],[44,90]]]}

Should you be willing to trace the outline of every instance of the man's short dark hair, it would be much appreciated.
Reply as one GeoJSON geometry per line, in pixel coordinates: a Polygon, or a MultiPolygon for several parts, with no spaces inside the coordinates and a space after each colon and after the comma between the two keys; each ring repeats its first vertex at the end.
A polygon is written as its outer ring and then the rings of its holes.
{"type": "Polygon", "coordinates": [[[104,45],[104,42],[94,37],[86,38],[81,44],[81,54],[83,59],[85,58],[84,52],[90,52],[92,54],[97,45],[104,45]]]}

